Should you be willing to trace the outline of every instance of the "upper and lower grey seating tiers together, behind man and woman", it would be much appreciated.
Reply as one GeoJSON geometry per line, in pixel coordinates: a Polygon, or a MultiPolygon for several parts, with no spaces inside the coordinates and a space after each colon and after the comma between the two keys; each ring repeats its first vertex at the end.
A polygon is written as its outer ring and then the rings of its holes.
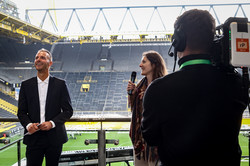
{"type": "Polygon", "coordinates": [[[112,112],[128,114],[126,87],[132,71],[140,75],[142,53],[158,51],[172,70],[167,43],[56,43],[45,45],[0,37],[0,78],[10,84],[36,76],[34,57],[41,48],[52,52],[51,75],[65,79],[75,115],[112,112]],[[159,45],[158,45],[159,44],[159,45]]]}

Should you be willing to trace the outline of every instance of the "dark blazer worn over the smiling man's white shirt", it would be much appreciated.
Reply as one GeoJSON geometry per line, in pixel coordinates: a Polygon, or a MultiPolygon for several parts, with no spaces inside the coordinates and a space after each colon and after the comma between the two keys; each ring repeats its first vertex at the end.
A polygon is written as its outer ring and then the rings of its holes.
{"type": "MultiPolygon", "coordinates": [[[[50,76],[45,106],[45,121],[52,120],[55,128],[49,131],[38,131],[24,137],[24,144],[34,145],[39,134],[47,134],[53,145],[67,142],[68,137],[64,123],[73,114],[69,92],[64,80],[50,76]]],[[[17,116],[27,132],[29,123],[40,123],[40,104],[37,77],[28,79],[21,84],[18,100],[17,116]]]]}

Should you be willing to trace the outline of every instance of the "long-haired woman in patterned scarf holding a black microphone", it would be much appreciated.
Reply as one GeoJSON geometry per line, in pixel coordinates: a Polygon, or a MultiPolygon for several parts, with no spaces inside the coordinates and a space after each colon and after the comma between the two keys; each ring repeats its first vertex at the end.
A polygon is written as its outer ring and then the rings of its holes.
{"type": "Polygon", "coordinates": [[[155,166],[159,165],[157,147],[147,146],[142,138],[141,118],[142,118],[142,99],[148,85],[155,79],[167,74],[165,61],[156,51],[147,51],[142,54],[142,60],[139,65],[141,75],[145,76],[136,85],[132,81],[128,82],[127,91],[129,93],[128,103],[132,110],[132,119],[129,136],[134,147],[134,165],[135,166],[155,166]]]}

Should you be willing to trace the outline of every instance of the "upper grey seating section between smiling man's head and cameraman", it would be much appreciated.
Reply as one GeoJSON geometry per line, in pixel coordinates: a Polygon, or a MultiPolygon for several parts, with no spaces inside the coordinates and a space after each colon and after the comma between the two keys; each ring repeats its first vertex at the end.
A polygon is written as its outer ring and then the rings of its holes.
{"type": "Polygon", "coordinates": [[[100,71],[100,66],[103,65],[105,71],[139,71],[141,55],[148,50],[156,50],[162,54],[171,70],[173,58],[168,57],[168,48],[169,46],[102,47],[101,43],[81,45],[60,43],[53,48],[53,57],[54,63],[61,64],[61,66],[54,66],[53,70],[66,72],[100,71]]]}

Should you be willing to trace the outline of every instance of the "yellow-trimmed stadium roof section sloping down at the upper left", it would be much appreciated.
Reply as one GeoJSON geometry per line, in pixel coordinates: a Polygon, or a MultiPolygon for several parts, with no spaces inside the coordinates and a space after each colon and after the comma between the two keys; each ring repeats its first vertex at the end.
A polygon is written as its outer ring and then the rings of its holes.
{"type": "Polygon", "coordinates": [[[61,40],[59,35],[55,35],[2,12],[0,12],[0,35],[18,38],[24,44],[38,41],[53,44],[61,40]]]}

